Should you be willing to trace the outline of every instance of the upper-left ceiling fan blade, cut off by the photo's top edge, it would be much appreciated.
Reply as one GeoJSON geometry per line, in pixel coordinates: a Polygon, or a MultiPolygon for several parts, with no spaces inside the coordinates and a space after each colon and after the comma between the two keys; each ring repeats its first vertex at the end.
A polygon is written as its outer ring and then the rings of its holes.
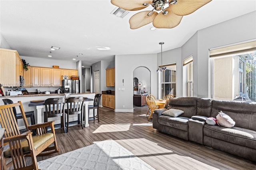
{"type": "Polygon", "coordinates": [[[144,6],[144,3],[152,3],[152,0],[111,0],[111,3],[115,6],[123,8],[128,11],[136,11],[146,8],[148,6],[144,6]]]}

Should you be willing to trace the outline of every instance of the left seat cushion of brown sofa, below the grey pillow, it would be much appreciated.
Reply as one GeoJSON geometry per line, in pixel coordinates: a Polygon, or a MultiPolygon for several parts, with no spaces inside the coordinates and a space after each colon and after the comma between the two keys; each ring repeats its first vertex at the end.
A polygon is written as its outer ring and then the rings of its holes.
{"type": "Polygon", "coordinates": [[[180,130],[188,131],[188,117],[170,117],[161,115],[158,118],[158,123],[160,125],[165,125],[168,127],[178,128],[180,130]]]}

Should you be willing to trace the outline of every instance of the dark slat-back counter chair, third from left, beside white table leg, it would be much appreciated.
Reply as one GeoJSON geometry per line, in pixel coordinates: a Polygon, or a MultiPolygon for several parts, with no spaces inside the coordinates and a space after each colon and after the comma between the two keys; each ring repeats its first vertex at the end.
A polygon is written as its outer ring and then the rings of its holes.
{"type": "Polygon", "coordinates": [[[77,115],[77,124],[82,125],[83,128],[83,122],[82,122],[82,116],[84,111],[84,97],[70,97],[66,101],[67,103],[67,109],[65,110],[66,113],[66,121],[65,121],[65,127],[66,132],[68,132],[68,124],[69,124],[69,115],[77,115]],[[81,120],[81,121],[80,121],[81,120]]]}

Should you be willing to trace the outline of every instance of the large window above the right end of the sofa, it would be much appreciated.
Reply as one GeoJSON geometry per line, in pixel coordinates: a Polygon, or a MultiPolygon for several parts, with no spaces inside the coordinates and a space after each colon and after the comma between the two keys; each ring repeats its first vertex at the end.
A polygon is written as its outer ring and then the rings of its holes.
{"type": "Polygon", "coordinates": [[[256,101],[256,42],[234,46],[210,50],[211,98],[256,101]]]}

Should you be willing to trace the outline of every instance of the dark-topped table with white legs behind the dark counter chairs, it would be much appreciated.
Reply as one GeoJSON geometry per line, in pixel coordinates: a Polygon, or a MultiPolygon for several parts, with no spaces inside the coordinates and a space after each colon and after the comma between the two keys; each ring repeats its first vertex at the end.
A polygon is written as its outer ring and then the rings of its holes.
{"type": "MultiPolygon", "coordinates": [[[[68,98],[66,98],[66,99],[68,99],[68,98]]],[[[34,101],[30,101],[28,104],[29,107],[36,107],[36,111],[37,111],[37,115],[38,115],[37,123],[43,123],[43,120],[44,120],[44,112],[42,112],[42,109],[45,107],[44,101],[45,100],[34,100],[34,101]]],[[[83,121],[84,127],[89,127],[89,122],[88,122],[88,115],[89,115],[88,103],[89,103],[89,101],[94,101],[94,99],[84,97],[84,116],[85,116],[85,119],[83,121]]]]}

